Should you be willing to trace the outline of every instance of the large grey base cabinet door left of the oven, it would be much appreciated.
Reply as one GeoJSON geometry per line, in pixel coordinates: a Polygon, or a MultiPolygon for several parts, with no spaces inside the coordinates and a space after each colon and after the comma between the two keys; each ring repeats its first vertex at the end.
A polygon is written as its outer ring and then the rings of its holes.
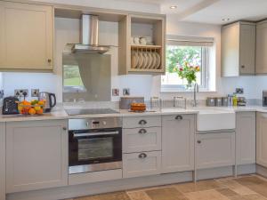
{"type": "Polygon", "coordinates": [[[8,193],[68,185],[65,120],[6,124],[8,193]]]}

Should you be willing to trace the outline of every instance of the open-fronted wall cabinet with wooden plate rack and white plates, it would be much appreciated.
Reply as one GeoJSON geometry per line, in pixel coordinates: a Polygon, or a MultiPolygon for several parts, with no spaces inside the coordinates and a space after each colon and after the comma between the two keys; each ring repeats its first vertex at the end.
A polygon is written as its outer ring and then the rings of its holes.
{"type": "Polygon", "coordinates": [[[119,74],[164,74],[166,16],[129,14],[118,27],[119,74]]]}

